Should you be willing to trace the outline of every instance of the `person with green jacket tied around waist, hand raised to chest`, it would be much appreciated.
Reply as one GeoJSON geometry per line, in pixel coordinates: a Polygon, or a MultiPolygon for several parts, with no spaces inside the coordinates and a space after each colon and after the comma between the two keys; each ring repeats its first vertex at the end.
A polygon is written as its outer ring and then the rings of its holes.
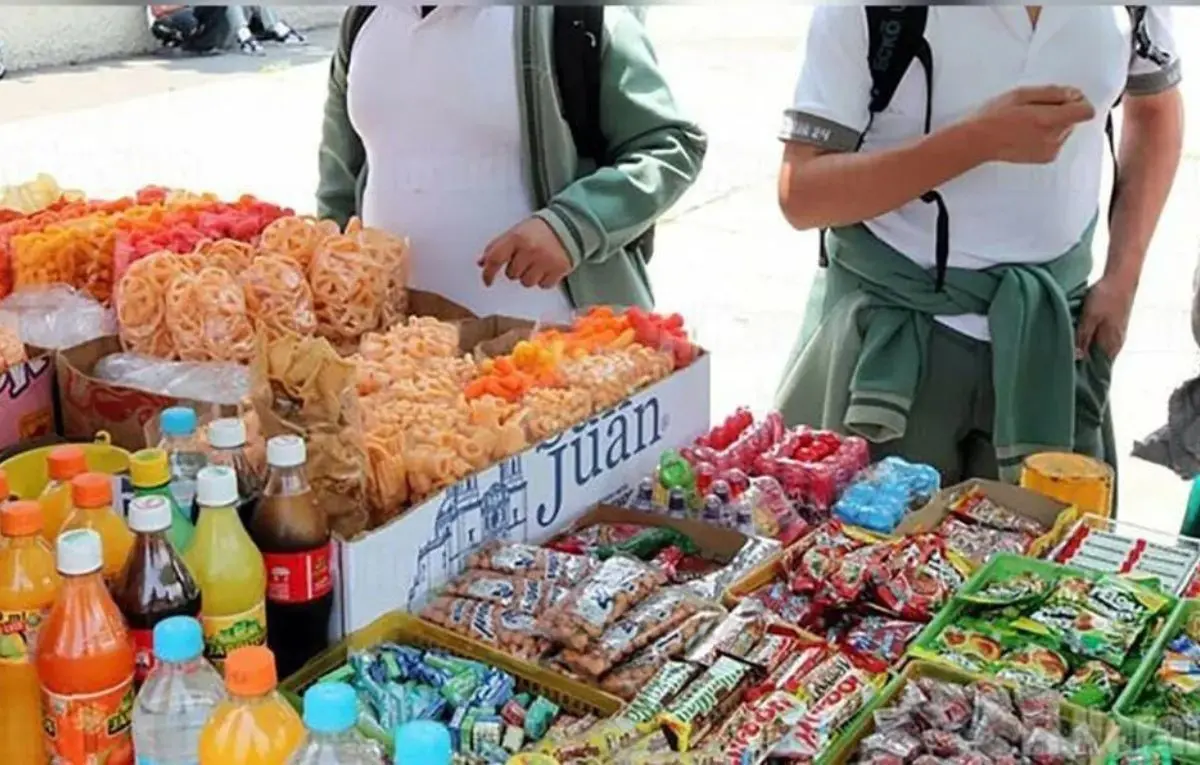
{"type": "Polygon", "coordinates": [[[1180,77],[1166,8],[816,8],[779,198],[793,227],[827,229],[827,267],[787,418],[947,483],[1015,480],[1040,451],[1115,466],[1108,386],[1180,162],[1180,77]]]}

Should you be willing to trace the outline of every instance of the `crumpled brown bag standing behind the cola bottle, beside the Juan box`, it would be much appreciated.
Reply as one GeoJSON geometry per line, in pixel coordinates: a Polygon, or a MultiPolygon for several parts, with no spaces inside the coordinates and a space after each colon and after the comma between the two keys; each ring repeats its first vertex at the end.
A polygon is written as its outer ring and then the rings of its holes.
{"type": "Polygon", "coordinates": [[[251,375],[263,434],[307,440],[308,480],[330,528],[343,538],[365,530],[367,459],[354,365],[319,338],[262,336],[251,375]]]}

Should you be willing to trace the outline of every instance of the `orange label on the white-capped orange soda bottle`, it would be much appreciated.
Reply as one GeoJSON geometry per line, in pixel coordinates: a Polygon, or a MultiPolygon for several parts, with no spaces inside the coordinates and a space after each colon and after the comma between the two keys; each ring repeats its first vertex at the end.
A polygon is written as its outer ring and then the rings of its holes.
{"type": "Polygon", "coordinates": [[[42,688],[42,734],[50,763],[133,765],[133,675],[100,693],[42,688]]]}

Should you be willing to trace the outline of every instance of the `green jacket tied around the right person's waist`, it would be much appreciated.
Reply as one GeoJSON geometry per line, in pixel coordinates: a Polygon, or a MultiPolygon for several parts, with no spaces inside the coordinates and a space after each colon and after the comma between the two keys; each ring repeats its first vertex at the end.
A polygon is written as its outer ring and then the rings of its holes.
{"type": "Polygon", "coordinates": [[[785,417],[875,442],[902,436],[934,317],[985,314],[1001,477],[1014,480],[1026,456],[1044,451],[1082,451],[1115,464],[1111,361],[1094,344],[1082,361],[1074,350],[1093,230],[1094,223],[1075,247],[1043,265],[949,269],[943,291],[866,227],[830,231],[824,293],[810,303],[816,323],[779,392],[785,417]]]}

